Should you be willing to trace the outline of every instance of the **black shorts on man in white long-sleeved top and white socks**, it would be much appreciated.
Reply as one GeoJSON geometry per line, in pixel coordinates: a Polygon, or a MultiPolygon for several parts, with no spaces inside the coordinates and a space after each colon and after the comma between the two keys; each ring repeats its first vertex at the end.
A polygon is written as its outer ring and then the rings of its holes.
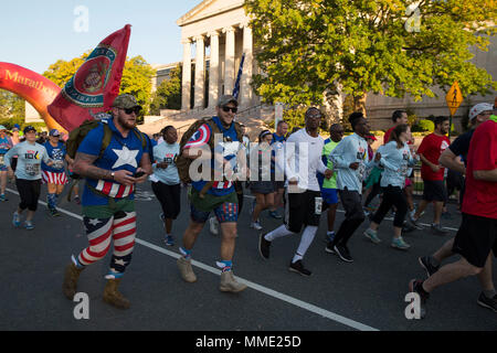
{"type": "Polygon", "coordinates": [[[288,193],[285,190],[284,222],[288,231],[300,233],[303,226],[319,226],[321,210],[316,210],[317,197],[321,201],[322,205],[321,193],[319,191],[306,190],[303,193],[288,193]]]}

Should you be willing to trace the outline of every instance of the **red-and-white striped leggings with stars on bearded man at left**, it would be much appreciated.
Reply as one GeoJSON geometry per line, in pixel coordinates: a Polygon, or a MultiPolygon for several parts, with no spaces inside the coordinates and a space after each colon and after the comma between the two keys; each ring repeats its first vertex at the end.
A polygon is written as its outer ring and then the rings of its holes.
{"type": "Polygon", "coordinates": [[[80,253],[77,261],[92,265],[103,259],[114,239],[114,254],[110,259],[110,271],[123,275],[131,261],[136,238],[136,212],[117,212],[110,218],[83,217],[89,246],[80,253]]]}

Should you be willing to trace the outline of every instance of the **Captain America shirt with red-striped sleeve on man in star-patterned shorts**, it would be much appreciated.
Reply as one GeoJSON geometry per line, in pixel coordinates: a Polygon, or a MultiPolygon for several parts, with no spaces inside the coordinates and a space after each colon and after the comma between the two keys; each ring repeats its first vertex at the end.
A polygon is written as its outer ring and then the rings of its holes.
{"type": "MultiPolygon", "coordinates": [[[[218,117],[212,118],[219,130],[223,135],[223,141],[219,146],[214,146],[214,151],[212,153],[222,153],[223,158],[231,161],[232,170],[236,167],[236,153],[243,149],[243,145],[239,142],[236,130],[234,124],[225,129],[218,117]]],[[[184,145],[184,149],[189,148],[202,148],[209,146],[209,140],[213,131],[211,130],[209,124],[203,124],[190,138],[190,140],[184,145]]],[[[214,138],[214,137],[212,137],[214,138]]],[[[214,168],[214,159],[211,160],[211,168],[214,168]]],[[[212,174],[212,173],[210,173],[212,174]]],[[[203,186],[208,183],[205,180],[193,181],[191,185],[201,191],[203,186]]],[[[213,181],[212,188],[209,189],[208,193],[215,196],[223,196],[234,192],[233,182],[231,181],[213,181]]]]}

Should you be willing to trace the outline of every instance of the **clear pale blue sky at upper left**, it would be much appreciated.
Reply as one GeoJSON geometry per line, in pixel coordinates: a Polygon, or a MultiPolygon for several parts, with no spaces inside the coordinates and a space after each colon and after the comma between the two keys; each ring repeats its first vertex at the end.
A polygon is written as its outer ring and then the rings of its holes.
{"type": "Polygon", "coordinates": [[[110,33],[131,24],[128,56],[149,64],[182,60],[176,21],[201,0],[1,0],[0,62],[42,74],[57,60],[93,50],[110,33]],[[87,9],[75,14],[78,7],[87,9]],[[82,21],[83,20],[83,21],[82,21]],[[88,31],[75,30],[75,24],[88,31]]]}

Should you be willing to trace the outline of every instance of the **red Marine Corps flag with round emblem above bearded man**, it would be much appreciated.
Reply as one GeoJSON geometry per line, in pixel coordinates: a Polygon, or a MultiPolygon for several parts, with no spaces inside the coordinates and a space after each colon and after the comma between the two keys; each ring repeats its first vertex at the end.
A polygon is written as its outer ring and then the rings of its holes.
{"type": "Polygon", "coordinates": [[[98,113],[109,110],[119,94],[131,25],[98,44],[49,106],[50,115],[67,131],[98,113]]]}

